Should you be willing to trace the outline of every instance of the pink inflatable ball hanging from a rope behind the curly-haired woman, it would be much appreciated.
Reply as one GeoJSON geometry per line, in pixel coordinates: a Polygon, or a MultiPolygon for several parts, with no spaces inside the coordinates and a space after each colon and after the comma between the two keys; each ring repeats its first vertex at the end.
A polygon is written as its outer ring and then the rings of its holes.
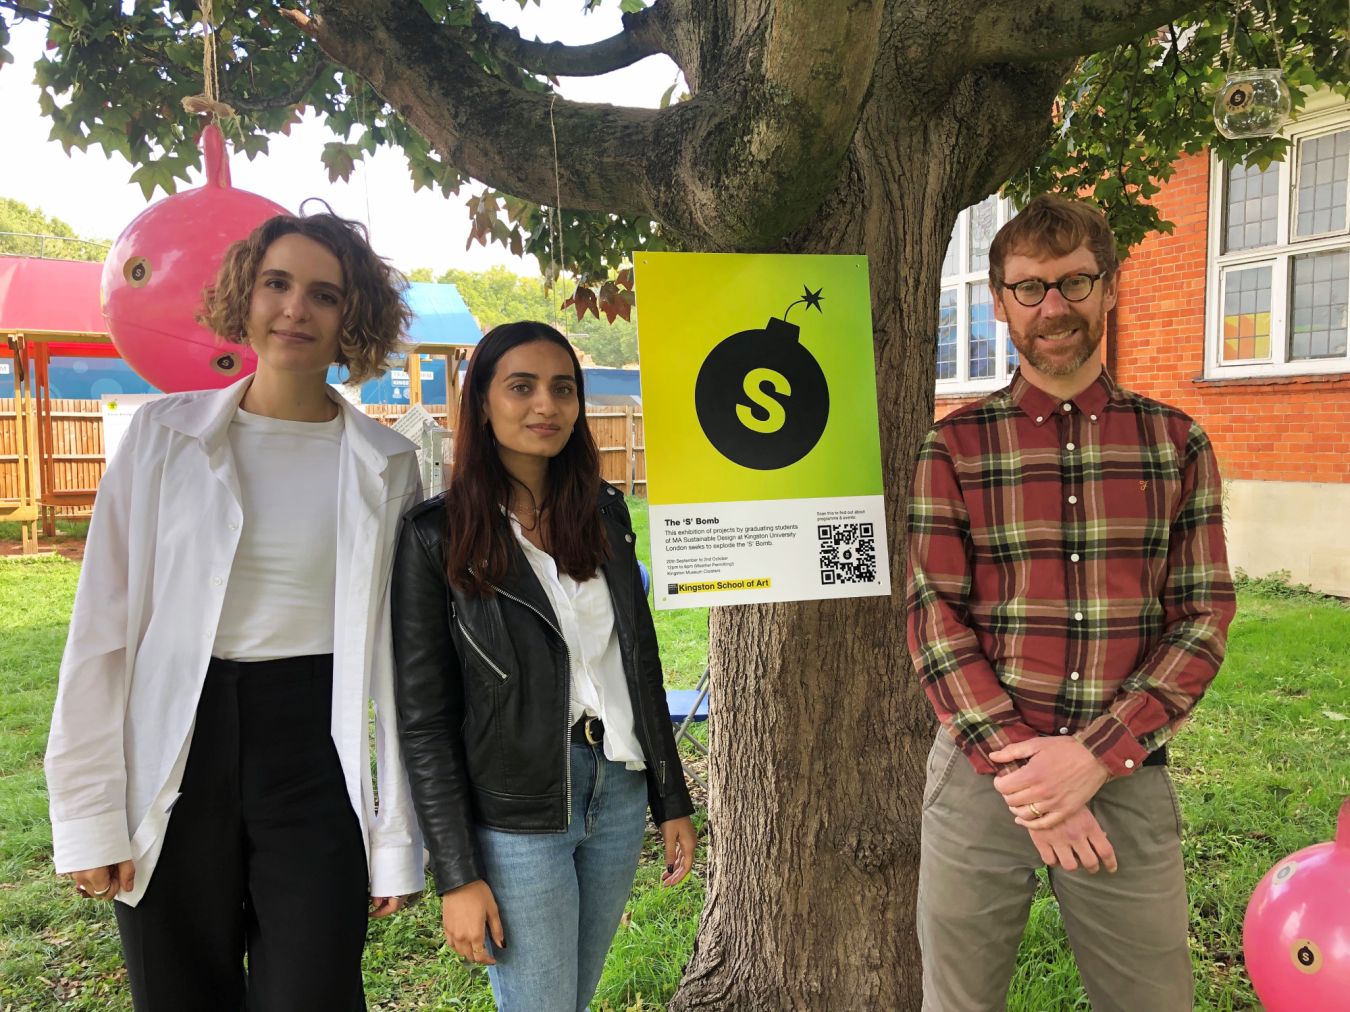
{"type": "Polygon", "coordinates": [[[201,132],[207,182],[165,197],[123,229],[103,264],[103,314],[117,352],[161,390],[202,390],[252,372],[258,358],[196,321],[225,248],[285,208],[230,185],[220,130],[201,132]]]}

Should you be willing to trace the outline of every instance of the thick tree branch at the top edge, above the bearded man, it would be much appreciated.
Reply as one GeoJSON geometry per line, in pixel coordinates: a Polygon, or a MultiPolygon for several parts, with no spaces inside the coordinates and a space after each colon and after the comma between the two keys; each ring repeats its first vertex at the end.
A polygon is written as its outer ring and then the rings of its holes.
{"type": "Polygon", "coordinates": [[[1081,57],[1166,24],[1196,0],[998,0],[973,5],[972,18],[960,34],[960,54],[967,66],[988,63],[1042,63],[1081,57]]]}

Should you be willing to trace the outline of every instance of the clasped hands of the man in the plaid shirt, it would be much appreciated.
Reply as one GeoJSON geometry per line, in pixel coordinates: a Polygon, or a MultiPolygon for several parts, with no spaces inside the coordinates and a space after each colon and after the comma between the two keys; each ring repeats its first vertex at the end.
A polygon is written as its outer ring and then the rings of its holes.
{"type": "Polygon", "coordinates": [[[1111,775],[1087,746],[1076,738],[1031,738],[991,753],[990,760],[1023,761],[1019,769],[999,770],[994,787],[1046,866],[1116,869],[1111,841],[1087,807],[1111,775]]]}

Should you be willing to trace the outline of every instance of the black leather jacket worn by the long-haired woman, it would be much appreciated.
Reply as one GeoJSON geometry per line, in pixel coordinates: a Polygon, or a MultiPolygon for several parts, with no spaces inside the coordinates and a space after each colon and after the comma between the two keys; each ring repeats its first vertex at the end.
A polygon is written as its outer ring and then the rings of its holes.
{"type": "MultiPolygon", "coordinates": [[[[652,819],[694,806],[675,752],[656,630],[624,497],[601,483],[609,584],[652,819]]],[[[525,553],[491,595],[446,580],[441,497],[404,517],[393,576],[398,726],[437,892],[483,877],[474,826],[563,833],[570,816],[571,675],[558,618],[525,553]]]]}

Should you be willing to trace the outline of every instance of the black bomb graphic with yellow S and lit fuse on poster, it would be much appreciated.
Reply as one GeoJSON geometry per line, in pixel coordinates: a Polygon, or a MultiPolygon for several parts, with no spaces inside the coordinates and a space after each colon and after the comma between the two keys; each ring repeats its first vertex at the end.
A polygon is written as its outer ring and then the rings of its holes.
{"type": "Polygon", "coordinates": [[[805,457],[825,432],[830,390],[815,356],[787,321],[806,304],[822,313],[819,290],[770,317],[761,331],[722,340],[703,360],[694,383],[698,424],[718,453],[741,467],[776,471],[805,457]]]}

